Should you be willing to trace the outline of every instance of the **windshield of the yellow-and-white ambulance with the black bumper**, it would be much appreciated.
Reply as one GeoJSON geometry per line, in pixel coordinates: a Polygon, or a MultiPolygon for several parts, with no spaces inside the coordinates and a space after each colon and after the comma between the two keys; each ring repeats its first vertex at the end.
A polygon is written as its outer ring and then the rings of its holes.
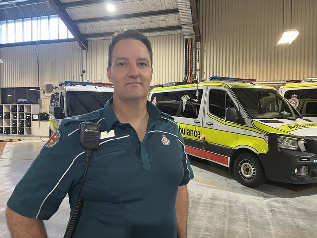
{"type": "Polygon", "coordinates": [[[301,118],[276,90],[265,88],[232,88],[252,119],[301,118]]]}

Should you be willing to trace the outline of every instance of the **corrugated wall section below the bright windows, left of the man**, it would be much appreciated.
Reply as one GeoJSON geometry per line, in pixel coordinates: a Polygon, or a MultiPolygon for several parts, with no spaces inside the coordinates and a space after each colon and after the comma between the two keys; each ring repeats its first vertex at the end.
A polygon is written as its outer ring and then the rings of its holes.
{"type": "MultiPolygon", "coordinates": [[[[0,48],[1,87],[38,86],[36,45],[0,48]]],[[[81,49],[77,42],[39,45],[40,86],[77,80],[81,72],[81,49]]]]}

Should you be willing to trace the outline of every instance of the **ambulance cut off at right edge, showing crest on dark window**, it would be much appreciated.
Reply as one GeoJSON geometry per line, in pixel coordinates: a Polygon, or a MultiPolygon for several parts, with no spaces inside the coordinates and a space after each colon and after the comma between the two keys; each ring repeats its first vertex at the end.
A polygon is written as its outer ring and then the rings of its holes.
{"type": "Polygon", "coordinates": [[[292,106],[305,118],[317,123],[317,78],[306,78],[279,88],[292,106]]]}

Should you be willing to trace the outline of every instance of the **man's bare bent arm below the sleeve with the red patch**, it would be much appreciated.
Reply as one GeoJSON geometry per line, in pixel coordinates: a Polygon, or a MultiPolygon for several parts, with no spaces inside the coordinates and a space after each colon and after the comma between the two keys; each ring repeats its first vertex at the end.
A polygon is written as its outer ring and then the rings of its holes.
{"type": "Polygon", "coordinates": [[[12,238],[47,238],[42,220],[24,217],[8,207],[5,215],[12,238]]]}

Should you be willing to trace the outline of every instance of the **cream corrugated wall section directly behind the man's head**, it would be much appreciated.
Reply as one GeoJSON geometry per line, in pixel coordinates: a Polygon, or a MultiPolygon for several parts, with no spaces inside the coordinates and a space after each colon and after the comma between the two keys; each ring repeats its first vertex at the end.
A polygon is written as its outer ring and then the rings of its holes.
{"type": "MultiPolygon", "coordinates": [[[[184,77],[184,39],[181,34],[149,37],[153,51],[152,84],[182,81],[184,77]]],[[[87,79],[109,82],[107,79],[108,46],[110,40],[89,40],[87,79]]]]}

